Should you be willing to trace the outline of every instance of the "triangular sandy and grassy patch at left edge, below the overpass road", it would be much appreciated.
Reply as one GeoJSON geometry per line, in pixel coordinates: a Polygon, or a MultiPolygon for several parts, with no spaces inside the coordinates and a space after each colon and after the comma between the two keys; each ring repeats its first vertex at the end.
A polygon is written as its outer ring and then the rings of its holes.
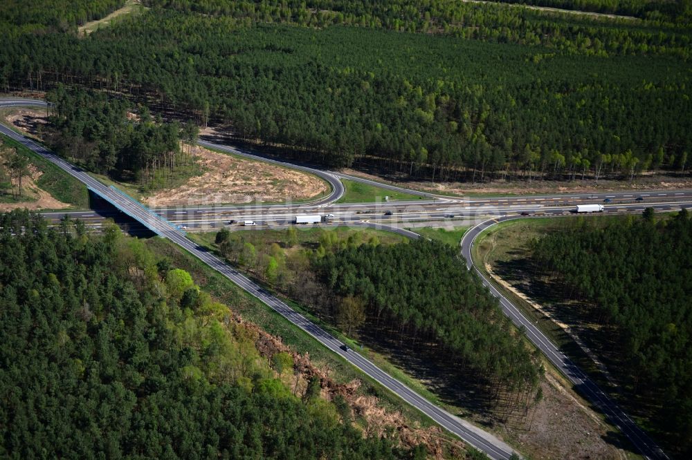
{"type": "Polygon", "coordinates": [[[86,209],[89,194],[84,184],[62,169],[0,136],[0,201],[48,209],[86,209]]]}

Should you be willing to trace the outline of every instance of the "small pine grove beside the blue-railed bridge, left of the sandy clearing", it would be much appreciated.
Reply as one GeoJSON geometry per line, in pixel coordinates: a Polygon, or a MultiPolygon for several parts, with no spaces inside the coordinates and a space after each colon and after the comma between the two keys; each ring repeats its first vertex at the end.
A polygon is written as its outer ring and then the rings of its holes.
{"type": "Polygon", "coordinates": [[[48,142],[91,171],[155,188],[182,166],[194,166],[190,149],[181,149],[181,140],[197,139],[194,123],[165,123],[146,106],[135,108],[127,99],[62,85],[46,99],[53,104],[48,142]]]}

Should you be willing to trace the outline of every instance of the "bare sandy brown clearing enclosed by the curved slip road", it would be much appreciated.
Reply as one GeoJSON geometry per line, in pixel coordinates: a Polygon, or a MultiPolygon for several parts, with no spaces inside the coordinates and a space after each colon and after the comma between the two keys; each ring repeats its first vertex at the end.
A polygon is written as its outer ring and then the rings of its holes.
{"type": "Polygon", "coordinates": [[[146,198],[152,207],[194,204],[282,202],[307,200],[327,191],[322,180],[280,166],[195,147],[202,175],[172,190],[146,198]]]}

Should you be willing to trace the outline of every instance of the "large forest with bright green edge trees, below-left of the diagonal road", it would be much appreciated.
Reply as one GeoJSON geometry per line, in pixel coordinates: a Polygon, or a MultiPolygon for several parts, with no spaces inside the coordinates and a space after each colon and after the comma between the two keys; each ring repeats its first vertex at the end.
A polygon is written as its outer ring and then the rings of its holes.
{"type": "Polygon", "coordinates": [[[319,383],[294,396],[226,306],[115,227],[15,211],[0,253],[3,458],[412,454],[340,421],[319,383]]]}

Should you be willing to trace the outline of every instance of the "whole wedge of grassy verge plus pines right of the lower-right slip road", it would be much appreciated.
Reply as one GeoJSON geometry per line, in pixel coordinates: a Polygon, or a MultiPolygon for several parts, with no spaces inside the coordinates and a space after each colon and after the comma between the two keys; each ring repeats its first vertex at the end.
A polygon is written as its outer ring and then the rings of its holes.
{"type": "Polygon", "coordinates": [[[476,245],[480,268],[680,458],[690,449],[692,319],[677,248],[689,222],[684,212],[515,220],[476,245]]]}

